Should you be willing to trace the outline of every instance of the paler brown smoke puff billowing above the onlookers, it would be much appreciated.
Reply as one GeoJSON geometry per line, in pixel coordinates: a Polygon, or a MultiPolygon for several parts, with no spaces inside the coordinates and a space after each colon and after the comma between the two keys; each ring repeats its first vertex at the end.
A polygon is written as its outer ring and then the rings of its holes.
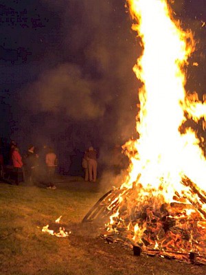
{"type": "Polygon", "coordinates": [[[99,118],[104,115],[106,98],[100,105],[93,89],[95,83],[83,76],[77,65],[61,64],[28,85],[25,106],[35,113],[61,113],[73,120],[99,118]]]}

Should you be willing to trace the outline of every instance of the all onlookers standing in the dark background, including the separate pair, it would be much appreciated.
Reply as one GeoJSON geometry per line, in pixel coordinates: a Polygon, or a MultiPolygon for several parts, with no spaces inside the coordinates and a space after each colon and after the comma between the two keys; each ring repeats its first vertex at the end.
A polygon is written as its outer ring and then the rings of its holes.
{"type": "MultiPolygon", "coordinates": [[[[12,171],[16,185],[25,181],[27,185],[41,183],[47,188],[56,189],[54,178],[58,167],[58,158],[52,147],[44,145],[38,149],[30,144],[27,146],[27,152],[22,155],[19,146],[12,140],[7,151],[6,154],[0,152],[1,179],[7,178],[12,171]]],[[[85,181],[95,182],[97,180],[97,155],[97,151],[90,146],[82,157],[85,181]]]]}

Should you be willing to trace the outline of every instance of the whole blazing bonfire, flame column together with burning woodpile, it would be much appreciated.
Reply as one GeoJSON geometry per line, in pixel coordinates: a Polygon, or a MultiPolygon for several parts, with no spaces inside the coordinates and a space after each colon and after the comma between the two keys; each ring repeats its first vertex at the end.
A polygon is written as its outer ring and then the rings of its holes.
{"type": "Polygon", "coordinates": [[[127,2],[143,47],[133,67],[142,83],[139,138],[123,146],[130,166],[116,205],[108,206],[107,230],[146,251],[206,256],[206,159],[195,131],[180,131],[188,118],[202,119],[204,129],[206,118],[205,98],[185,91],[192,32],[181,29],[166,0],[127,2]]]}

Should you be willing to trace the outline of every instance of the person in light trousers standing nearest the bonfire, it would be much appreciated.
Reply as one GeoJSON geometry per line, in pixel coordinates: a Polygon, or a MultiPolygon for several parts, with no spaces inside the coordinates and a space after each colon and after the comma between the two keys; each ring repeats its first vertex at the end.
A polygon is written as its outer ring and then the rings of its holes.
{"type": "Polygon", "coordinates": [[[95,182],[97,179],[98,161],[97,161],[97,151],[91,146],[87,153],[87,161],[89,168],[89,181],[95,182]]]}

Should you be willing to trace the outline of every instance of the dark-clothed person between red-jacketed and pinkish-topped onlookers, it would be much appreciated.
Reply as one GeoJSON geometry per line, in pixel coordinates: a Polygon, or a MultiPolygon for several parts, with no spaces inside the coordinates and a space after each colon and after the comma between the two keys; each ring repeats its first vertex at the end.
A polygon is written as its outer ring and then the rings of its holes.
{"type": "Polygon", "coordinates": [[[34,153],[34,145],[30,144],[28,146],[28,151],[23,159],[23,163],[25,164],[25,180],[29,184],[33,184],[35,168],[37,166],[37,157],[34,153]]]}

